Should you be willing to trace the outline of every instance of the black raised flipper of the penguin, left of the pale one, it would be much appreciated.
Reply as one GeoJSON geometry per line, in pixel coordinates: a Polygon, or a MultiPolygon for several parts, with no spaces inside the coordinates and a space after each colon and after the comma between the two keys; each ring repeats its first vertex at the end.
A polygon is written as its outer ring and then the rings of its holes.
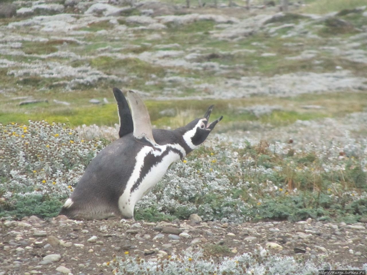
{"type": "Polygon", "coordinates": [[[119,137],[123,137],[128,133],[134,131],[134,124],[132,122],[131,111],[124,94],[118,88],[113,88],[113,96],[117,101],[117,113],[119,114],[120,130],[119,137]]]}

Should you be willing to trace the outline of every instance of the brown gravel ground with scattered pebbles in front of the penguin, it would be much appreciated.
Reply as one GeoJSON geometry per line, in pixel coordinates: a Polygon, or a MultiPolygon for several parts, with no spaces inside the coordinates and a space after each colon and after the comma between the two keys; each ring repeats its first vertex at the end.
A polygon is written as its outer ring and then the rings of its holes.
{"type": "Polygon", "coordinates": [[[204,255],[217,260],[262,246],[270,254],[330,263],[332,267],[338,263],[361,267],[367,261],[366,223],[347,225],[308,219],[297,223],[232,224],[200,220],[195,214],[191,220],[172,223],[74,221],[65,216],[3,220],[0,274],[110,274],[107,263],[113,255],[157,261],[199,247],[204,255]]]}

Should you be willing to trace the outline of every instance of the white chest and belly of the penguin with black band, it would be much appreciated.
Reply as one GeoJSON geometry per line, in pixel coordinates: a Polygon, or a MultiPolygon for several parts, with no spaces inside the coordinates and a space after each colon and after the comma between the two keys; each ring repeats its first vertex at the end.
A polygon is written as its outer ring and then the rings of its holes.
{"type": "Polygon", "coordinates": [[[134,170],[119,198],[119,209],[124,217],[134,216],[135,204],[164,176],[172,162],[185,157],[178,144],[159,147],[144,146],[135,157],[134,170]]]}

